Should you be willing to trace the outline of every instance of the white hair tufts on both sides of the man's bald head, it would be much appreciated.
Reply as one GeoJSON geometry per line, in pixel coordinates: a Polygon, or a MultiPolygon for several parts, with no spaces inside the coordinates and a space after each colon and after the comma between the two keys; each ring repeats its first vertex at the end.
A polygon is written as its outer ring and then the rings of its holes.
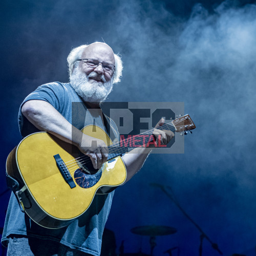
{"type": "MultiPolygon", "coordinates": [[[[84,49],[86,49],[89,45],[81,45],[78,46],[70,52],[67,60],[68,60],[68,66],[69,66],[69,77],[72,75],[73,70],[74,70],[74,64],[75,62],[81,58],[82,52],[84,49]]],[[[123,65],[122,65],[122,60],[118,54],[114,54],[115,57],[115,71],[113,74],[113,83],[120,82],[120,78],[122,76],[122,70],[123,70],[123,65]]]]}

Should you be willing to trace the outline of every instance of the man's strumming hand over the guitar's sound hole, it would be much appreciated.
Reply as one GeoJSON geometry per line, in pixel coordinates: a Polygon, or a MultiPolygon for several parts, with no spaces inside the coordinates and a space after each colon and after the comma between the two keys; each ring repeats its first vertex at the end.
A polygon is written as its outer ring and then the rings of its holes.
{"type": "Polygon", "coordinates": [[[99,169],[101,165],[108,160],[109,150],[103,140],[83,134],[78,148],[84,155],[90,157],[95,169],[99,169]]]}

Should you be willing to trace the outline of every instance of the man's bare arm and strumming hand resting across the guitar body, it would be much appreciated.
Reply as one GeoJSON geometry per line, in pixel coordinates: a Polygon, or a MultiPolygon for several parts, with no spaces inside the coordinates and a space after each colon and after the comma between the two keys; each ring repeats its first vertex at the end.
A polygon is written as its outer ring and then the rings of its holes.
{"type": "Polygon", "coordinates": [[[91,158],[94,168],[100,168],[108,159],[106,144],[102,140],[79,131],[50,103],[44,100],[29,100],[24,103],[22,113],[40,131],[51,133],[76,145],[83,154],[91,158]],[[92,141],[97,141],[97,146],[92,146],[95,144],[92,144],[92,141]]]}

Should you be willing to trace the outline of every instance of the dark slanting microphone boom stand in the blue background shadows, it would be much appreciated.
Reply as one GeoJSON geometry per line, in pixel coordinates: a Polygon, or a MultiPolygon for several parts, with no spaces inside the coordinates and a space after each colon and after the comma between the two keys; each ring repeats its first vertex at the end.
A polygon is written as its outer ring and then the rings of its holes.
{"type": "Polygon", "coordinates": [[[192,222],[196,227],[197,229],[201,232],[201,235],[200,235],[200,246],[199,246],[199,256],[202,256],[202,249],[203,249],[203,246],[202,246],[202,243],[203,243],[203,239],[205,238],[206,240],[209,241],[209,243],[211,244],[211,247],[214,248],[215,250],[217,250],[221,255],[223,255],[222,251],[219,249],[218,247],[218,244],[216,243],[213,243],[209,237],[206,235],[206,233],[202,230],[202,228],[193,220],[191,219],[188,214],[185,212],[185,210],[180,206],[178,200],[175,198],[174,196],[174,193],[173,193],[173,190],[170,186],[168,186],[169,190],[171,191],[172,194],[168,193],[165,189],[165,187],[163,185],[160,185],[160,184],[157,184],[157,183],[152,183],[151,184],[152,186],[156,186],[156,187],[160,187],[163,192],[167,195],[168,198],[170,198],[170,200],[172,200],[175,205],[181,210],[181,212],[185,215],[185,217],[190,221],[192,222]]]}

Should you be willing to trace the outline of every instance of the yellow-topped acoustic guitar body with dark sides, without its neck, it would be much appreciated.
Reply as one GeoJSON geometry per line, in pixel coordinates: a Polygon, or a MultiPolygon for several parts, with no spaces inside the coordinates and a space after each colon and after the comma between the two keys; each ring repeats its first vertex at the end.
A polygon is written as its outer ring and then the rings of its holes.
{"type": "MultiPolygon", "coordinates": [[[[111,145],[109,136],[98,126],[88,125],[83,133],[111,145]]],[[[106,161],[97,171],[90,158],[46,132],[24,138],[9,154],[7,174],[19,183],[19,196],[26,214],[37,224],[60,228],[78,218],[91,205],[95,194],[106,194],[126,179],[120,156],[106,161]],[[75,186],[65,181],[57,167],[55,155],[66,163],[75,186]],[[84,162],[84,163],[83,163],[84,162]],[[86,168],[88,164],[88,170],[86,168]]]]}

